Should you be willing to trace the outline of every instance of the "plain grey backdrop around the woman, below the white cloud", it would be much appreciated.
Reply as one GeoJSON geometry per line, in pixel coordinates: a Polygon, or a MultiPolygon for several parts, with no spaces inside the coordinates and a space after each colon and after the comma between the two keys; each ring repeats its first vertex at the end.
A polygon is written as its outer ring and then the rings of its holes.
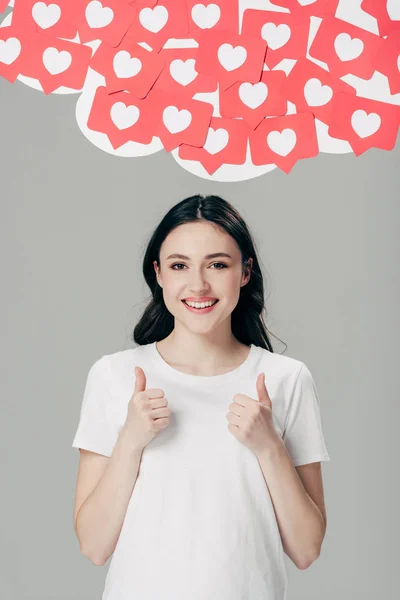
{"type": "Polygon", "coordinates": [[[0,79],[0,596],[101,598],[109,562],[85,559],[73,529],[85,379],[102,354],[134,345],[153,227],[182,198],[215,193],[253,232],[268,327],[314,376],[331,457],[322,553],[306,571],[287,559],[288,600],[393,598],[400,144],[213,183],[164,151],[128,159],[97,149],[78,129],[76,99],[0,79]]]}

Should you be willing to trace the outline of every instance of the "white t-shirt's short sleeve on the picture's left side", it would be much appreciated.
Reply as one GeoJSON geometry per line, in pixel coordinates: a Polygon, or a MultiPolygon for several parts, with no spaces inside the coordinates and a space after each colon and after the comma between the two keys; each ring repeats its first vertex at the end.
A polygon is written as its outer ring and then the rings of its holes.
{"type": "Polygon", "coordinates": [[[89,370],[72,447],[111,456],[118,438],[118,430],[109,416],[108,407],[112,397],[107,369],[107,357],[102,356],[89,370]]]}

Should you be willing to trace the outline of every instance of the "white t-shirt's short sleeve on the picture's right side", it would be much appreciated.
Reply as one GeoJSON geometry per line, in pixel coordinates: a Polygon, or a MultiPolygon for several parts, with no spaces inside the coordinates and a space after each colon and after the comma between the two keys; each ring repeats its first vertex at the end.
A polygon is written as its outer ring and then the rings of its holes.
{"type": "Polygon", "coordinates": [[[295,467],[330,460],[322,431],[317,388],[304,363],[293,388],[282,439],[295,467]]]}

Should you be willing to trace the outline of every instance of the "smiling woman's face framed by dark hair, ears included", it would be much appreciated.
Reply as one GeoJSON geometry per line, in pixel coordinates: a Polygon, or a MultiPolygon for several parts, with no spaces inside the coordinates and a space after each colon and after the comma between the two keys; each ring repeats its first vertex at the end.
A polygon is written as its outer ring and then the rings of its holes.
{"type": "MultiPolygon", "coordinates": [[[[252,265],[252,259],[248,264],[252,265]]],[[[250,270],[242,269],[235,240],[208,221],[185,223],[171,231],[161,246],[160,267],[154,261],[169,312],[187,328],[202,333],[230,316],[241,286],[250,278],[250,270]],[[214,256],[207,258],[210,254],[214,256]],[[197,311],[183,303],[189,298],[204,302],[204,296],[218,300],[212,309],[197,311]]]]}

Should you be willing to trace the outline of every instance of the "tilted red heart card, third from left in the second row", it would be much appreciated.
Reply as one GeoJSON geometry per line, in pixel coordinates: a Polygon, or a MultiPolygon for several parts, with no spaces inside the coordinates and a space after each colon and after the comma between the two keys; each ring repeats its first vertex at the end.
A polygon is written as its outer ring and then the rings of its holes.
{"type": "Polygon", "coordinates": [[[109,93],[128,90],[138,98],[148,94],[164,65],[157,52],[126,43],[125,38],[117,48],[100,44],[90,62],[91,68],[104,75],[109,93]]]}

